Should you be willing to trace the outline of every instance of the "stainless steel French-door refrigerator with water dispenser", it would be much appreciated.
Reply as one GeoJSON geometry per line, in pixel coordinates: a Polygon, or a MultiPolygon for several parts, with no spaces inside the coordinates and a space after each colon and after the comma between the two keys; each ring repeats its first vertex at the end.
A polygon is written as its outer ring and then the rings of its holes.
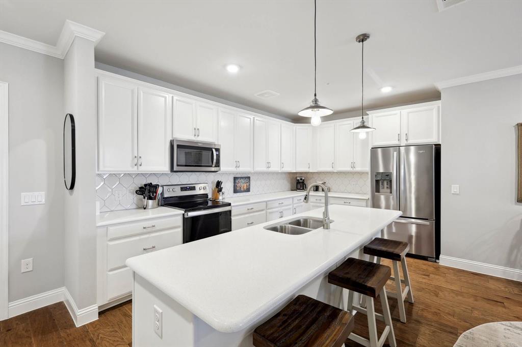
{"type": "Polygon", "coordinates": [[[440,145],[371,150],[372,207],[402,212],[383,237],[431,261],[440,255],[440,157],[440,145]]]}

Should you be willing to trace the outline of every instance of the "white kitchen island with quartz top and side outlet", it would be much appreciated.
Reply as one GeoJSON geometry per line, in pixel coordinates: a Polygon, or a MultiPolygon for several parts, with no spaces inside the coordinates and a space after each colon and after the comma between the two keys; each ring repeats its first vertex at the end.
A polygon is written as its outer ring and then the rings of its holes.
{"type": "MultiPolygon", "coordinates": [[[[253,330],[295,295],[333,303],[335,287],[325,276],[346,257],[361,257],[364,244],[401,212],[329,209],[329,230],[264,229],[272,221],[127,259],[134,276],[133,344],[251,346],[253,330]]],[[[314,209],[288,219],[322,215],[314,209]]]]}

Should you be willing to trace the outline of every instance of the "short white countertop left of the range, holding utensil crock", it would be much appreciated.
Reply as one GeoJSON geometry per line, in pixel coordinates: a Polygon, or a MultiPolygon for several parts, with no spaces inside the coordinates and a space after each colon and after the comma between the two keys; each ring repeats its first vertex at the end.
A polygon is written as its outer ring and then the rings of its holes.
{"type": "Polygon", "coordinates": [[[152,218],[182,215],[183,211],[170,207],[160,206],[158,208],[143,209],[132,208],[120,211],[100,213],[96,216],[96,226],[103,227],[112,224],[120,224],[131,221],[147,220],[152,218]]]}

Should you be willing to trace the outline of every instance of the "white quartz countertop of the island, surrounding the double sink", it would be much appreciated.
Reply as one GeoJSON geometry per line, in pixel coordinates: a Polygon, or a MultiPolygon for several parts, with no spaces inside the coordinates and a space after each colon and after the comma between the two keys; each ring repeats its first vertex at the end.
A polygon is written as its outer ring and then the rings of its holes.
{"type": "MultiPolygon", "coordinates": [[[[281,219],[132,257],[126,265],[212,328],[240,331],[401,215],[341,205],[329,211],[330,230],[289,235],[263,228],[281,219]]],[[[287,219],[322,214],[318,208],[287,219]]]]}

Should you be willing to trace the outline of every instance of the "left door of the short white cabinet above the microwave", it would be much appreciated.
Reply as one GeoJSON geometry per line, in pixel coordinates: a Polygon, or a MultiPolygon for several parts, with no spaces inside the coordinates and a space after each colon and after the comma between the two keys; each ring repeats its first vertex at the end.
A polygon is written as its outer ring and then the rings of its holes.
{"type": "Polygon", "coordinates": [[[194,140],[196,138],[196,101],[174,96],[172,98],[172,137],[194,140]]]}

